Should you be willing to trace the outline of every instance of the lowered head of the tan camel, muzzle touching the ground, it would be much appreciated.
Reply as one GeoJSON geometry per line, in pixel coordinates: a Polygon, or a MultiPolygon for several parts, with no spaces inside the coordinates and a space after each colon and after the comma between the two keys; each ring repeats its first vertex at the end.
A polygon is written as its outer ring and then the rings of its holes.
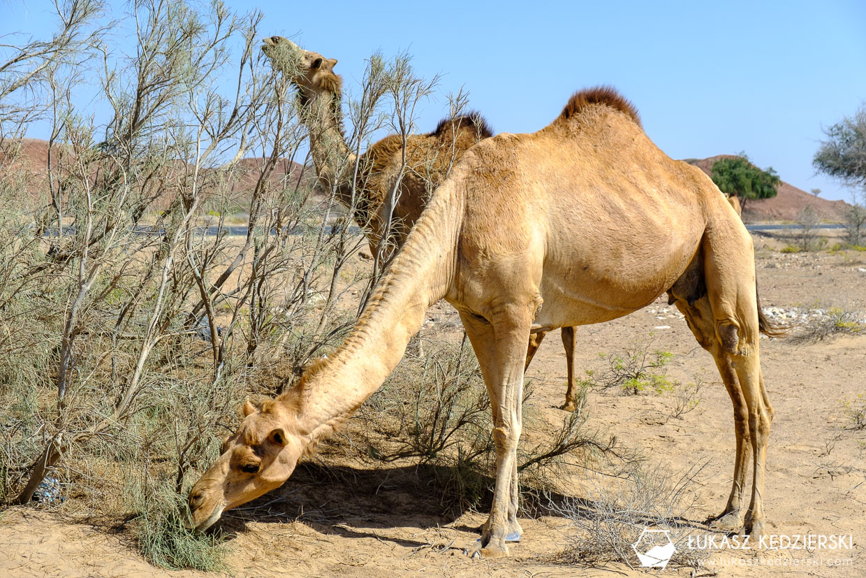
{"type": "Polygon", "coordinates": [[[223,442],[222,455],[190,490],[190,526],[210,528],[224,510],[236,508],[281,486],[307,447],[299,408],[289,399],[268,399],[256,409],[249,401],[243,421],[223,442]]]}

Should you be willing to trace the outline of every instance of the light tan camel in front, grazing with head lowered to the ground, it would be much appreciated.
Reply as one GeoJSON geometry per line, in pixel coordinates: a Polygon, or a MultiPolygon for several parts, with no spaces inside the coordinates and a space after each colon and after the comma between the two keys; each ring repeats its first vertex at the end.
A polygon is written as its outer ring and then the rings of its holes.
{"type": "Polygon", "coordinates": [[[759,332],[777,329],[759,308],[752,239],[713,181],[662,153],[608,87],[574,94],[537,133],[502,133],[463,154],[343,346],[279,397],[242,407],[241,425],[191,489],[190,523],[206,529],[283,484],[381,386],[444,298],[469,334],[494,421],[493,504],[469,553],[508,555],[522,531],[516,449],[527,337],[616,319],[664,293],[712,354],[734,406],[734,483],[714,525],[761,536],[773,411],[759,332]]]}

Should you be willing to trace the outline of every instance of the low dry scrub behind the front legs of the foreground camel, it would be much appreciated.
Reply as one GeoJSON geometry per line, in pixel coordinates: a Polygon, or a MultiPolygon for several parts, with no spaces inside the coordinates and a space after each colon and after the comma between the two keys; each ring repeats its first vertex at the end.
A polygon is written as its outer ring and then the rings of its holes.
{"type": "MultiPolygon", "coordinates": [[[[479,508],[492,496],[495,446],[490,401],[465,334],[459,345],[423,339],[424,354],[410,347],[377,393],[361,406],[345,432],[346,447],[373,464],[433,466],[446,509],[479,508]]],[[[533,384],[524,390],[531,398],[533,384]]],[[[586,427],[584,406],[552,428],[524,406],[518,449],[522,489],[533,494],[562,490],[566,469],[598,457],[621,458],[617,439],[586,427]],[[535,431],[533,431],[535,430],[535,431]],[[527,438],[540,441],[527,443],[527,438]]]]}

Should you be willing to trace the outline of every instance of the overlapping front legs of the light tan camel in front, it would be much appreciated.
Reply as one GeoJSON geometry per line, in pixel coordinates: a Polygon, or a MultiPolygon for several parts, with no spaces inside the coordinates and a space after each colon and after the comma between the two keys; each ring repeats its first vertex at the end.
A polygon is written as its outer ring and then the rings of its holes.
{"type": "Polygon", "coordinates": [[[517,443],[522,429],[523,369],[533,307],[505,307],[494,322],[462,315],[488,388],[494,420],[496,484],[481,540],[467,552],[481,557],[508,555],[506,542],[520,540],[517,443]]]}

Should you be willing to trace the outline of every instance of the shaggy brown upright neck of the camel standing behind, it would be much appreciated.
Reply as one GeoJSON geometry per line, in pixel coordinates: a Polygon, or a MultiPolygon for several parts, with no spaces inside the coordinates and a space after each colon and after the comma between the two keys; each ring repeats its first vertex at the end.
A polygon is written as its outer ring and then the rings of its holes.
{"type": "MultiPolygon", "coordinates": [[[[355,155],[346,145],[343,136],[343,114],[339,106],[339,93],[324,92],[308,94],[301,92],[301,119],[310,134],[310,154],[316,167],[316,176],[326,192],[334,187],[340,202],[346,205],[346,195],[351,167],[355,155]]],[[[348,205],[351,205],[351,201],[348,205]]]]}

